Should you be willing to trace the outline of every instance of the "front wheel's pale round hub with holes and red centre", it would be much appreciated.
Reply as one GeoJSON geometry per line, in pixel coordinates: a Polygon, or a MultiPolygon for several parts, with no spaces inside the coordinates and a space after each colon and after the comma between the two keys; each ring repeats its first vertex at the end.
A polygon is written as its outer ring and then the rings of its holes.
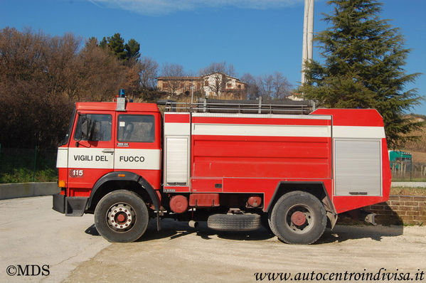
{"type": "Polygon", "coordinates": [[[127,203],[116,203],[107,211],[107,223],[113,230],[129,230],[134,222],[134,210],[127,203]]]}

